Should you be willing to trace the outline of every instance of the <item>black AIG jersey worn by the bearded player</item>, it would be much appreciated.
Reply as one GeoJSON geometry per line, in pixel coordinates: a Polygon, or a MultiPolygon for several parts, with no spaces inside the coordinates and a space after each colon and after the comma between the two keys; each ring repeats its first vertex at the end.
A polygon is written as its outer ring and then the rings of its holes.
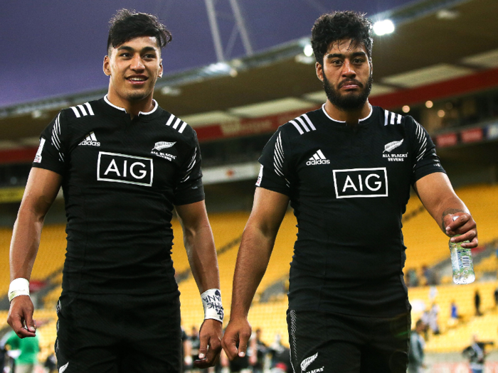
{"type": "Polygon", "coordinates": [[[409,309],[401,216],[410,185],[445,172],[412,117],[372,107],[356,126],[324,107],[280,126],[256,185],[290,197],[290,308],[389,317],[409,309]]]}

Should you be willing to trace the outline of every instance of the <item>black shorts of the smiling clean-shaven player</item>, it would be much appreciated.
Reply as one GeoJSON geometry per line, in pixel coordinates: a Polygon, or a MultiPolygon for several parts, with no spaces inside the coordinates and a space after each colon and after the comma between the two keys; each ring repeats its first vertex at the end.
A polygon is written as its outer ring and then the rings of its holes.
{"type": "Polygon", "coordinates": [[[175,296],[66,293],[57,304],[59,372],[181,372],[175,296]]]}

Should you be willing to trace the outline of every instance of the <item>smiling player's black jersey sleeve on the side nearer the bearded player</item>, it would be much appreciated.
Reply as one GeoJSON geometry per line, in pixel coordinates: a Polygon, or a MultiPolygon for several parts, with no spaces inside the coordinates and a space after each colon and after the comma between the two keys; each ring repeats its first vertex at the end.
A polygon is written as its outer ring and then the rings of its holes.
{"type": "Polygon", "coordinates": [[[204,200],[202,185],[201,148],[194,132],[194,147],[186,156],[180,171],[179,183],[174,190],[174,205],[187,205],[204,200]]]}

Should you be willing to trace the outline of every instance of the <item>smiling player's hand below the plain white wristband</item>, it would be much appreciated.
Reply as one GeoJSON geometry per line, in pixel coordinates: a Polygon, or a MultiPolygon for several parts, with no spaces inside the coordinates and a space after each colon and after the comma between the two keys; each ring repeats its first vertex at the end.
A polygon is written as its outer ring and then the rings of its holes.
{"type": "Polygon", "coordinates": [[[33,302],[29,296],[16,296],[12,299],[7,323],[20,338],[36,335],[36,320],[33,320],[33,302]]]}

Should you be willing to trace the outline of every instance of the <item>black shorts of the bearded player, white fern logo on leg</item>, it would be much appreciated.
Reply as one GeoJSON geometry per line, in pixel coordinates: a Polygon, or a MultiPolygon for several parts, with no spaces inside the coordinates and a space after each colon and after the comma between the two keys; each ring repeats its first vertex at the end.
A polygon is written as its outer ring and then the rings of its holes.
{"type": "Polygon", "coordinates": [[[369,318],[287,310],[294,372],[406,373],[410,314],[369,318]]]}

